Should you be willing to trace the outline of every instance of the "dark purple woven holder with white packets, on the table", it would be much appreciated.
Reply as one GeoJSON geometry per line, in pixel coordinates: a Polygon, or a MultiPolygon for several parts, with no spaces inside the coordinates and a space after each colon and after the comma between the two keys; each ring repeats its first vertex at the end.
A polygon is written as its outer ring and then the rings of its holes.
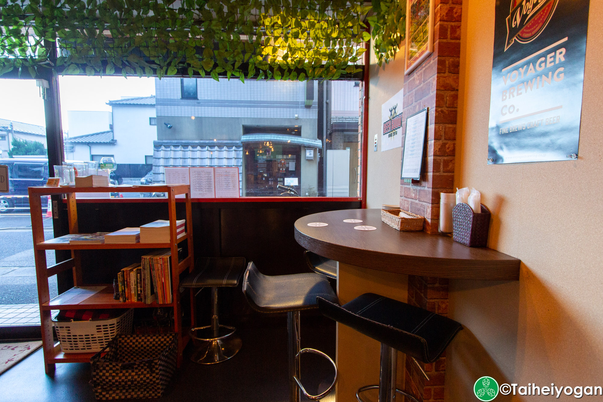
{"type": "Polygon", "coordinates": [[[469,247],[485,247],[488,243],[490,211],[481,204],[481,214],[476,214],[466,203],[452,209],[452,240],[469,247]]]}

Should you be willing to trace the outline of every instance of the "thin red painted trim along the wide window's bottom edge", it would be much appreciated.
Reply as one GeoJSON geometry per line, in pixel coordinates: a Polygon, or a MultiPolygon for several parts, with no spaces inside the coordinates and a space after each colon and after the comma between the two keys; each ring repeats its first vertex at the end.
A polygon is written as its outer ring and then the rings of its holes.
{"type": "MultiPolygon", "coordinates": [[[[194,198],[191,202],[358,202],[358,197],[239,197],[239,198],[194,198]]],[[[66,202],[66,199],[63,200],[66,202]]],[[[78,198],[80,203],[112,202],[168,202],[166,198],[78,198]]],[[[185,199],[176,199],[185,202],[185,199]]]]}

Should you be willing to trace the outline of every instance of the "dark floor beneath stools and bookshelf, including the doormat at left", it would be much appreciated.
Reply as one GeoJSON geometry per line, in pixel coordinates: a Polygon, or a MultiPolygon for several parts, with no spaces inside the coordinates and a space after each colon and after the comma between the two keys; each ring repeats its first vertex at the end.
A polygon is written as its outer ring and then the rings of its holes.
{"type": "MultiPolygon", "coordinates": [[[[215,365],[192,363],[189,344],[182,366],[158,401],[288,401],[286,317],[256,315],[239,325],[237,333],[243,340],[241,351],[215,365]]],[[[316,348],[334,358],[335,323],[302,314],[301,347],[316,348]]],[[[320,392],[332,380],[332,368],[313,356],[304,355],[301,378],[309,392],[320,392]]],[[[87,363],[57,364],[54,376],[45,375],[39,349],[0,375],[0,401],[95,401],[89,380],[87,363]]]]}

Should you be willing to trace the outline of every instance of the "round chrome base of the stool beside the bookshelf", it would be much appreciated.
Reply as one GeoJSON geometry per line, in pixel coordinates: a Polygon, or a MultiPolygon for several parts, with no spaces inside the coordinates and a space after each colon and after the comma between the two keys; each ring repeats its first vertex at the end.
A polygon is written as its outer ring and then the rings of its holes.
{"type": "Polygon", "coordinates": [[[191,360],[202,365],[211,365],[224,362],[224,360],[235,356],[241,350],[243,342],[238,336],[232,336],[233,333],[235,333],[234,327],[220,325],[217,336],[204,337],[213,334],[210,325],[192,328],[189,334],[195,344],[195,349],[191,355],[191,360]]]}

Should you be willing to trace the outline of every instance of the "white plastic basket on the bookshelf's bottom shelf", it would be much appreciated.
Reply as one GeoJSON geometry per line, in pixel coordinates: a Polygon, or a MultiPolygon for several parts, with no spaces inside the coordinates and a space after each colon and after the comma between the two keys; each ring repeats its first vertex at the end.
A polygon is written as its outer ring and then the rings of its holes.
{"type": "Polygon", "coordinates": [[[63,353],[98,352],[117,334],[132,332],[134,309],[121,316],[100,321],[58,322],[52,319],[63,353]]]}

